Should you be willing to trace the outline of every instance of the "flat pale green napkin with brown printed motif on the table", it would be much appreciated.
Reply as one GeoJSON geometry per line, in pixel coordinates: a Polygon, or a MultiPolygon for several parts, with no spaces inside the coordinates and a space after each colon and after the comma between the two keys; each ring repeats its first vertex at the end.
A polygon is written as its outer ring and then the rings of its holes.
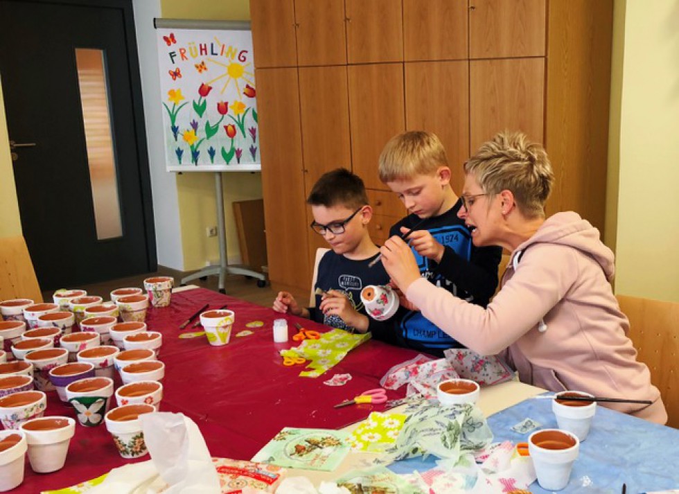
{"type": "Polygon", "coordinates": [[[349,452],[349,434],[340,430],[285,427],[252,461],[307,470],[335,470],[349,452]]]}

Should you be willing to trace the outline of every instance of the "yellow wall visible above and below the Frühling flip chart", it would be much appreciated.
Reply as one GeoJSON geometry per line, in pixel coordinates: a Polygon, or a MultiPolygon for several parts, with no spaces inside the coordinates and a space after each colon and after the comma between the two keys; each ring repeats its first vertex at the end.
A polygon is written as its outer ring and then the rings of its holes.
{"type": "MultiPolygon", "coordinates": [[[[249,0],[161,0],[166,19],[210,19],[243,21],[250,19],[249,0]]],[[[224,215],[227,223],[227,257],[240,258],[233,206],[237,200],[262,197],[259,173],[223,173],[224,215]]],[[[184,270],[196,270],[219,259],[216,238],[207,238],[206,229],[216,224],[215,179],[212,173],[177,175],[179,222],[182,228],[184,270]]]]}

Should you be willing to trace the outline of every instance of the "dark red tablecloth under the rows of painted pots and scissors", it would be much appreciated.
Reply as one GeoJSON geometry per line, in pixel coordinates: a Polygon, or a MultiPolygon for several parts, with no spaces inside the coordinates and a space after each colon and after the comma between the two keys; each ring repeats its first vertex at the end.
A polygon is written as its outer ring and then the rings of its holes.
{"type": "MultiPolygon", "coordinates": [[[[287,317],[290,342],[273,342],[274,319],[281,317],[270,308],[227,297],[218,292],[197,288],[173,294],[168,308],[150,309],[146,322],[149,330],[163,333],[160,360],[166,364],[163,381],[163,412],[182,412],[197,423],[211,454],[215,457],[250,459],[283,427],[338,429],[382,411],[384,405],[354,405],[340,409],[333,405],[353,398],[361,391],[378,387],[379,380],[394,364],[413,358],[416,353],[381,342],[369,341],[319,378],[300,378],[303,366],[284,367],[281,349],[297,346],[292,340],[293,323],[308,329],[329,328],[307,319],[287,317]],[[231,341],[221,347],[210,346],[204,336],[181,339],[179,324],[204,303],[218,308],[224,303],[236,313],[231,341]],[[251,321],[262,321],[261,328],[247,328],[251,321]],[[249,329],[245,337],[236,333],[249,329]],[[332,387],[323,382],[335,373],[349,373],[353,378],[344,386],[332,387]]],[[[200,330],[200,328],[199,328],[200,330]]],[[[116,387],[120,385],[116,376],[116,387]]],[[[389,398],[401,398],[405,390],[389,391],[389,398]]],[[[75,411],[49,393],[46,415],[76,416],[75,411]]],[[[114,398],[113,398],[114,399],[114,398]]],[[[114,404],[112,405],[114,406],[114,404]]],[[[71,486],[98,477],[112,468],[139,460],[125,460],[118,455],[104,424],[98,427],[76,425],[69,455],[62,470],[36,474],[26,458],[26,477],[16,492],[37,493],[46,489],[71,486]]]]}

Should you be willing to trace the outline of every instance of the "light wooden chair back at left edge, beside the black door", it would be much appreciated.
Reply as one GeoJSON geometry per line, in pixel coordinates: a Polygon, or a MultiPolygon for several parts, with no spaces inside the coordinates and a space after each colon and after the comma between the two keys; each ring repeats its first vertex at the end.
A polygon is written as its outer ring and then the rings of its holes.
{"type": "Polygon", "coordinates": [[[0,300],[32,299],[42,302],[33,263],[23,236],[0,239],[0,300]]]}

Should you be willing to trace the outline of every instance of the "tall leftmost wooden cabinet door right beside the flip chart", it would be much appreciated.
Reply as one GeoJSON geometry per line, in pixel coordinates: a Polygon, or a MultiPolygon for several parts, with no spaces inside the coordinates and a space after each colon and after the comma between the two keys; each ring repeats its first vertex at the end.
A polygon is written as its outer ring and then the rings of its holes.
{"type": "Polygon", "coordinates": [[[257,69],[256,79],[269,278],[307,290],[311,269],[297,69],[257,69]]]}

